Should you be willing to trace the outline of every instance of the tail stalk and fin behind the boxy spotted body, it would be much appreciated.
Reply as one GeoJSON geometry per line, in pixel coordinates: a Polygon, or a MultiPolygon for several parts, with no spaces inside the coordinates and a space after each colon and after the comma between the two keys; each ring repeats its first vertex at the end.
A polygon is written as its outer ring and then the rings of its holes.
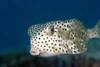
{"type": "Polygon", "coordinates": [[[99,38],[100,39],[100,20],[94,28],[87,29],[88,37],[90,38],[99,38]]]}

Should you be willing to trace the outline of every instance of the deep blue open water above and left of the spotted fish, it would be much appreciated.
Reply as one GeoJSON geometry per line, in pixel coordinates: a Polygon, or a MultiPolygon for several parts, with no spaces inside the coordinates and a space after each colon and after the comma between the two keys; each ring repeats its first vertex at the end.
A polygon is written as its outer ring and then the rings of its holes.
{"type": "Polygon", "coordinates": [[[0,0],[0,50],[30,45],[31,25],[73,18],[94,27],[100,19],[100,0],[0,0]]]}

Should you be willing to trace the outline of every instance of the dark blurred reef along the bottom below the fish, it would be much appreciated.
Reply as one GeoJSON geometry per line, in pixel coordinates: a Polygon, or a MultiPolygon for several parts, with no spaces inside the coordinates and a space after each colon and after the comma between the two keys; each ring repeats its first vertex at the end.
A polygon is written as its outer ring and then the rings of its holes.
{"type": "MultiPolygon", "coordinates": [[[[23,53],[0,55],[0,67],[100,67],[100,61],[83,55],[70,55],[67,61],[61,57],[37,57],[23,53]]],[[[66,59],[65,58],[65,59],[66,59]]]]}

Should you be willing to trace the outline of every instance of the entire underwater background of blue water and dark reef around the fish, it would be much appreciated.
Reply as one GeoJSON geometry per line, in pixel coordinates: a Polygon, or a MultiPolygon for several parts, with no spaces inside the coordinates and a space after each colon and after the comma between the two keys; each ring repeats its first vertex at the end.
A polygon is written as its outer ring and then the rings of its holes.
{"type": "Polygon", "coordinates": [[[100,0],[0,0],[0,67],[100,67],[97,38],[79,55],[30,55],[31,25],[73,18],[94,27],[100,19],[100,0]]]}

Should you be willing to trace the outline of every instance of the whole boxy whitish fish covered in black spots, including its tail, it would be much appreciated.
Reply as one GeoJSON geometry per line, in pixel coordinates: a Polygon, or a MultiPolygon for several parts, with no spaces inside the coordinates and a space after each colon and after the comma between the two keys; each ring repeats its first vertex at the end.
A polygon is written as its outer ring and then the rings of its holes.
{"type": "Polygon", "coordinates": [[[51,21],[29,27],[32,55],[43,57],[80,54],[87,50],[91,38],[100,38],[100,21],[86,29],[77,19],[51,21]]]}

